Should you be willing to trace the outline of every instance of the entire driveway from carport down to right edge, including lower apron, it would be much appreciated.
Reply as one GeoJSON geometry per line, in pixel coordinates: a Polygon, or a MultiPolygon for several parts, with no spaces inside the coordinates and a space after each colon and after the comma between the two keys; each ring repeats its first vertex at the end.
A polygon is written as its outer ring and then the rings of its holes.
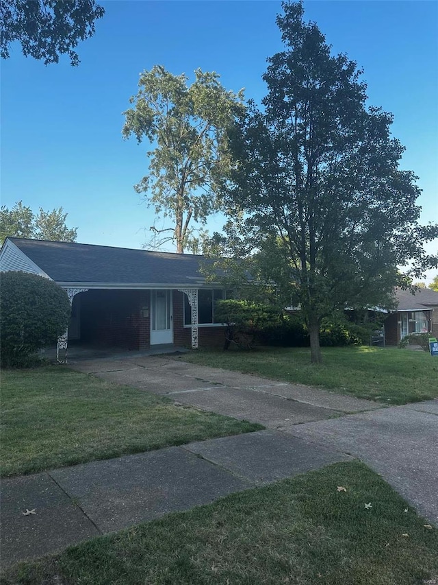
{"type": "Polygon", "coordinates": [[[387,408],[304,385],[196,366],[183,356],[94,359],[70,366],[359,457],[438,524],[437,400],[387,408]]]}

